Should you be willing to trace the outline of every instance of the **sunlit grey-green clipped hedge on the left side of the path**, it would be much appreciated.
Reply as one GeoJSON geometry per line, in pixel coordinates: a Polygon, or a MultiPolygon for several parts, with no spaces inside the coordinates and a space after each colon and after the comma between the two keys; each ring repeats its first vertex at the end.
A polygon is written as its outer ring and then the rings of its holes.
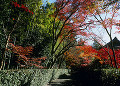
{"type": "Polygon", "coordinates": [[[67,69],[25,69],[0,71],[0,86],[45,86],[67,74],[67,69]]]}

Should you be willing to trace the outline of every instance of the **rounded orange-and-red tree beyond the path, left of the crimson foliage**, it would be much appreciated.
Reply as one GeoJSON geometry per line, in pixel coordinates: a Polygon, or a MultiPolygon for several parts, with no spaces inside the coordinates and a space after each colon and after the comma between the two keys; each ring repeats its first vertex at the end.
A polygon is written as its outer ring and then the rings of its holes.
{"type": "Polygon", "coordinates": [[[92,46],[88,45],[76,46],[65,52],[65,56],[68,68],[72,66],[74,67],[88,66],[95,59],[100,59],[100,57],[97,56],[97,50],[93,49],[92,46]]]}

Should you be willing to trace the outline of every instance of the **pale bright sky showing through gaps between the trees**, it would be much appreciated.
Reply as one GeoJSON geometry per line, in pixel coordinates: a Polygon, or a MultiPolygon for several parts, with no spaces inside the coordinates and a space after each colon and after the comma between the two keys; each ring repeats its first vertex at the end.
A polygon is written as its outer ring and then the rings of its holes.
{"type": "MultiPolygon", "coordinates": [[[[46,1],[48,1],[48,2],[50,2],[50,3],[53,3],[53,2],[55,2],[56,0],[43,0],[43,2],[46,2],[46,1]]],[[[104,16],[104,15],[103,15],[104,16]]],[[[102,16],[102,17],[103,17],[102,16]]],[[[108,15],[109,16],[109,15],[108,15]]],[[[120,19],[120,16],[118,16],[116,19],[120,19]]],[[[114,39],[114,37],[117,37],[118,38],[118,40],[120,40],[120,34],[115,34],[115,32],[116,32],[117,30],[116,30],[116,28],[115,27],[113,27],[113,29],[112,29],[112,39],[114,39]]],[[[97,34],[98,36],[100,36],[103,40],[104,40],[104,42],[105,43],[108,43],[109,41],[110,41],[110,39],[109,39],[109,36],[106,34],[106,31],[105,30],[103,30],[103,28],[99,28],[99,30],[98,30],[98,28],[96,28],[96,30],[94,29],[93,30],[93,32],[95,33],[95,34],[97,34]]],[[[105,44],[105,43],[103,43],[103,44],[105,44]]],[[[90,44],[90,45],[92,45],[93,44],[93,41],[88,41],[88,44],[90,44]]]]}

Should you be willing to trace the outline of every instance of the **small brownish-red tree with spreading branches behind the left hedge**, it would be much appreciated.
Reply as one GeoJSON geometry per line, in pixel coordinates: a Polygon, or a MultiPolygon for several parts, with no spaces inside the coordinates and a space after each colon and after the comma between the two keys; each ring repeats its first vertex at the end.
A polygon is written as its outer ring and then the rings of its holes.
{"type": "Polygon", "coordinates": [[[11,66],[11,68],[45,68],[42,66],[42,63],[46,60],[46,57],[33,58],[30,56],[33,51],[32,46],[22,47],[9,43],[9,47],[10,48],[7,49],[7,51],[11,51],[16,54],[16,56],[11,59],[13,61],[10,61],[10,63],[6,60],[6,64],[11,66]]]}

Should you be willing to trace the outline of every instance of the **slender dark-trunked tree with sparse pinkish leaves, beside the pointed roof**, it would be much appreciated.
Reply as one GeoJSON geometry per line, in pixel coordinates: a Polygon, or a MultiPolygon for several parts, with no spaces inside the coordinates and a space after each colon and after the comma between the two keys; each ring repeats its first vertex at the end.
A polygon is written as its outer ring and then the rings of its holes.
{"type": "MultiPolygon", "coordinates": [[[[106,2],[109,3],[108,0],[106,2]]],[[[114,4],[112,6],[110,6],[110,4],[108,4],[105,7],[105,9],[103,9],[103,7],[106,5],[105,2],[98,2],[98,3],[100,3],[99,8],[101,8],[101,9],[95,9],[97,15],[92,14],[91,16],[93,16],[95,18],[95,20],[93,20],[95,26],[96,25],[101,26],[104,29],[104,31],[106,32],[106,34],[109,36],[109,39],[111,41],[110,46],[111,46],[111,50],[112,50],[112,53],[113,53],[112,55],[109,54],[109,57],[110,57],[110,60],[114,58],[114,60],[111,60],[111,63],[114,62],[115,63],[115,68],[118,68],[117,67],[118,66],[117,61],[116,61],[116,55],[115,55],[115,49],[113,47],[113,42],[112,42],[113,27],[115,26],[116,29],[119,30],[119,26],[116,26],[116,24],[118,23],[117,22],[118,20],[117,20],[117,18],[115,19],[115,17],[118,16],[118,11],[119,11],[119,9],[116,9],[118,7],[118,3],[114,2],[114,4]],[[101,15],[102,12],[105,14],[104,17],[101,15]],[[109,14],[109,17],[107,16],[108,14],[109,14]]],[[[109,53],[109,48],[106,50],[106,52],[109,53]]]]}

